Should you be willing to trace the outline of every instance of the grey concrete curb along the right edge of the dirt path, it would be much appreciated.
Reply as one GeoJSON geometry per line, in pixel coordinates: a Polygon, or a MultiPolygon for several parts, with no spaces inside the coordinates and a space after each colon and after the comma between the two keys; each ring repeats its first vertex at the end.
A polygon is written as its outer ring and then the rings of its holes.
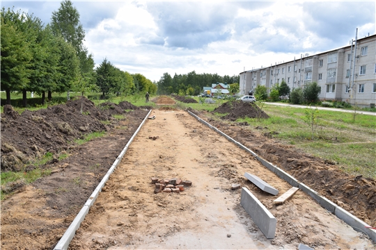
{"type": "Polygon", "coordinates": [[[284,172],[281,168],[276,167],[272,163],[269,163],[267,160],[261,158],[256,153],[251,151],[251,149],[246,148],[240,142],[237,142],[233,138],[230,138],[230,136],[219,131],[218,128],[215,128],[211,124],[205,122],[203,119],[201,119],[197,115],[194,115],[194,113],[191,113],[190,111],[187,111],[187,112],[189,113],[189,115],[196,118],[202,124],[205,124],[209,126],[210,128],[212,128],[214,131],[219,132],[219,134],[223,135],[230,142],[234,142],[241,149],[244,149],[245,151],[248,151],[249,153],[251,153],[253,156],[257,158],[258,161],[260,161],[261,164],[267,167],[267,169],[274,172],[274,174],[282,178],[284,181],[287,181],[290,185],[301,189],[303,192],[305,192],[310,197],[315,199],[315,201],[317,201],[323,208],[329,210],[331,213],[336,215],[339,219],[342,219],[345,223],[347,223],[349,226],[354,228],[355,231],[366,233],[370,239],[376,242],[376,230],[371,229],[371,228],[366,228],[366,226],[369,226],[368,224],[366,224],[366,222],[363,222],[361,219],[355,217],[351,213],[347,212],[345,209],[340,208],[340,206],[336,205],[336,203],[333,203],[332,201],[329,201],[329,199],[322,197],[315,190],[309,188],[307,185],[304,185],[304,183],[300,183],[299,181],[297,181],[296,178],[290,176],[290,174],[284,172]]]}

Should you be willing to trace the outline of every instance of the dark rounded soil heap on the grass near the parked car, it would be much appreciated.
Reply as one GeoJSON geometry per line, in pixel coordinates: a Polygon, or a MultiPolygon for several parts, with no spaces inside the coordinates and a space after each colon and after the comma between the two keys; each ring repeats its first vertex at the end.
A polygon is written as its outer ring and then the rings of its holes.
{"type": "Polygon", "coordinates": [[[246,103],[243,101],[228,101],[218,108],[213,110],[213,113],[228,113],[222,117],[222,119],[228,119],[230,121],[235,121],[239,118],[249,117],[249,118],[269,118],[269,115],[263,110],[258,108],[256,104],[246,103]]]}

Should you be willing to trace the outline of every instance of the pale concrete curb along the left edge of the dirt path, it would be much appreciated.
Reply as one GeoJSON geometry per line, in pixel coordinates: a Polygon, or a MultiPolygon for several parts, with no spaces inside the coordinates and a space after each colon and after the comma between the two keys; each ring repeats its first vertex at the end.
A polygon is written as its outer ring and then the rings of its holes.
{"type": "Polygon", "coordinates": [[[148,119],[150,113],[152,110],[149,111],[148,115],[143,119],[141,122],[139,128],[137,128],[136,132],[132,135],[132,138],[128,141],[128,143],[125,145],[124,149],[120,152],[118,158],[113,162],[112,166],[109,168],[109,171],[107,171],[107,174],[104,175],[102,178],[102,181],[97,185],[97,188],[95,188],[94,192],[91,194],[89,199],[84,204],[84,207],[81,208],[75,219],[73,219],[73,222],[68,227],[67,231],[65,231],[63,237],[58,241],[56,246],[54,247],[54,250],[66,250],[69,247],[70,241],[75,237],[76,231],[79,228],[79,225],[81,222],[84,221],[85,216],[88,214],[88,211],[91,206],[93,206],[95,200],[97,199],[99,193],[102,191],[102,188],[104,187],[104,184],[109,180],[109,176],[113,173],[116,166],[120,163],[121,159],[123,159],[123,156],[125,155],[125,152],[127,152],[128,147],[130,147],[130,144],[136,137],[137,133],[139,133],[141,127],[143,124],[145,124],[146,120],[148,119]]]}

